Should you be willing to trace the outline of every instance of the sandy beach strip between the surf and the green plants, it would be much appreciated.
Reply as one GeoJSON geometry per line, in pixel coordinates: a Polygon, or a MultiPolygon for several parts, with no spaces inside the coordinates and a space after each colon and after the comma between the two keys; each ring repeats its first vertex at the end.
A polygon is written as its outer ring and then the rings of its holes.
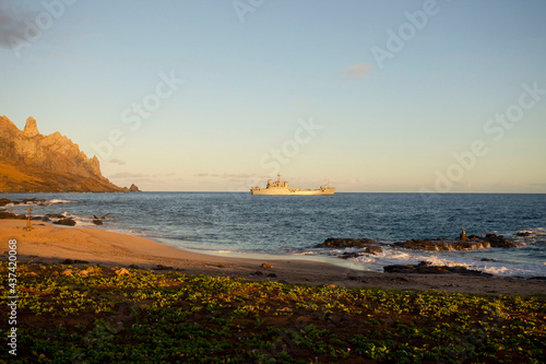
{"type": "MultiPolygon", "coordinates": [[[[397,274],[354,270],[309,259],[261,259],[224,257],[182,250],[147,238],[100,228],[64,227],[33,222],[25,231],[22,220],[0,220],[0,242],[5,259],[8,240],[17,240],[17,258],[25,263],[56,263],[83,260],[86,266],[179,270],[186,274],[239,277],[254,281],[292,284],[334,284],[347,287],[387,290],[437,290],[475,294],[546,294],[546,282],[461,274],[397,274]],[[263,267],[262,265],[265,265],[263,267]],[[269,267],[268,265],[272,266],[269,267]]],[[[5,261],[5,260],[4,260],[5,261]]],[[[81,265],[81,266],[84,266],[81,265]]]]}

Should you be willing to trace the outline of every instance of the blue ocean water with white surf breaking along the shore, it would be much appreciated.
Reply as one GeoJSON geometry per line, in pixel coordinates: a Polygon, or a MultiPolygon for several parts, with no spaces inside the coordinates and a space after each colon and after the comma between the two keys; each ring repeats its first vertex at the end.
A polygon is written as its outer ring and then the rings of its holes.
{"type": "MultiPolygon", "coordinates": [[[[361,270],[387,265],[463,266],[501,277],[546,277],[546,195],[335,193],[334,196],[251,196],[235,192],[2,193],[0,198],[46,199],[34,214],[66,213],[78,226],[144,236],[201,253],[294,257],[361,270]],[[106,216],[95,226],[93,215],[106,216]],[[414,251],[389,243],[412,238],[455,238],[495,233],[520,248],[470,251],[414,251]],[[531,232],[530,236],[517,236],[531,232]],[[314,248],[328,237],[366,237],[383,253],[339,258],[358,249],[314,248]],[[495,261],[483,261],[483,258],[495,261]]],[[[7,206],[25,213],[25,206],[7,206]]]]}

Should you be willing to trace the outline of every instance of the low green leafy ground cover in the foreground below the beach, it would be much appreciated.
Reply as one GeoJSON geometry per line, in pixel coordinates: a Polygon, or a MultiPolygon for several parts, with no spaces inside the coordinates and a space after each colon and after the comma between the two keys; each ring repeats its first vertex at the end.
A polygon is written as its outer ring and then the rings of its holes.
{"type": "MultiPolygon", "coordinates": [[[[2,263],[2,300],[9,293],[2,263]]],[[[539,363],[546,297],[17,267],[9,363],[539,363]],[[69,271],[67,271],[69,270],[69,271]]]]}

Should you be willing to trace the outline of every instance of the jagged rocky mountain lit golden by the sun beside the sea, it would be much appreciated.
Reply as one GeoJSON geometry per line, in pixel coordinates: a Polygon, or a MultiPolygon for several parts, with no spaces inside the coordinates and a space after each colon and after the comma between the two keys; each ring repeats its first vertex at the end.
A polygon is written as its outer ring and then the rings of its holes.
{"type": "Polygon", "coordinates": [[[28,118],[23,131],[0,116],[0,192],[124,192],[100,174],[98,158],[55,132],[43,136],[28,118]]]}

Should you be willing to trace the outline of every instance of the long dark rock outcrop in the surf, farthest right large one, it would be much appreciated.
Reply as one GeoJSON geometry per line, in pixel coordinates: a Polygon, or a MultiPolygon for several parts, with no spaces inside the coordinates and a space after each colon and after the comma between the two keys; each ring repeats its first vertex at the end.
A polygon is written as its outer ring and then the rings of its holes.
{"type": "Polygon", "coordinates": [[[502,235],[487,234],[485,237],[470,235],[465,240],[444,240],[436,239],[411,239],[401,243],[394,243],[394,247],[412,250],[470,250],[470,249],[486,249],[486,248],[517,248],[521,244],[512,242],[502,235]]]}

